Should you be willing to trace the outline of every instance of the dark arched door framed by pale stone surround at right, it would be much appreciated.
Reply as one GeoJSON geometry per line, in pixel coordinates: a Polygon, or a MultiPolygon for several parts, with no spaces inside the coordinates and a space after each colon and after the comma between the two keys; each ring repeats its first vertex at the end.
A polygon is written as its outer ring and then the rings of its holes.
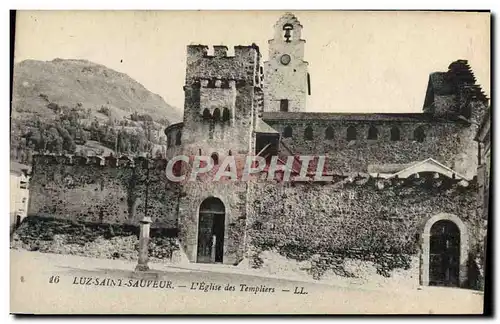
{"type": "Polygon", "coordinates": [[[429,285],[458,287],[459,274],[460,230],[452,221],[437,221],[430,233],[429,285]]]}

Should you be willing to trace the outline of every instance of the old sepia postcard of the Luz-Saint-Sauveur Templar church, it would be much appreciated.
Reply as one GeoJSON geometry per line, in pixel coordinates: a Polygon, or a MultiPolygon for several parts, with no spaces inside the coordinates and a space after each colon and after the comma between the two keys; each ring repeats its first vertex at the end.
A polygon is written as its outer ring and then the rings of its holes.
{"type": "Polygon", "coordinates": [[[490,12],[17,11],[13,314],[482,314],[490,12]]]}

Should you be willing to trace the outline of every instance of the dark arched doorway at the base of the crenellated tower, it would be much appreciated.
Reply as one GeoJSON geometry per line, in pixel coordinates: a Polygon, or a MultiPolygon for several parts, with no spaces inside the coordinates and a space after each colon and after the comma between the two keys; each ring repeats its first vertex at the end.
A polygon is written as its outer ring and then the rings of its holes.
{"type": "Polygon", "coordinates": [[[199,263],[222,263],[224,256],[225,207],[219,198],[210,197],[200,205],[198,219],[199,263]]]}

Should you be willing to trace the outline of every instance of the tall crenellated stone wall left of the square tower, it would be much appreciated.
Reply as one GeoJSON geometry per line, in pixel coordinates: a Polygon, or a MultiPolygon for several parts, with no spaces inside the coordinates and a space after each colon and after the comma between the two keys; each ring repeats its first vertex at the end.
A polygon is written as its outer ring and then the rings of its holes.
{"type": "Polygon", "coordinates": [[[148,216],[153,226],[176,227],[179,189],[167,181],[165,160],[137,159],[114,165],[83,159],[34,157],[28,215],[137,224],[145,214],[148,187],[148,216]]]}

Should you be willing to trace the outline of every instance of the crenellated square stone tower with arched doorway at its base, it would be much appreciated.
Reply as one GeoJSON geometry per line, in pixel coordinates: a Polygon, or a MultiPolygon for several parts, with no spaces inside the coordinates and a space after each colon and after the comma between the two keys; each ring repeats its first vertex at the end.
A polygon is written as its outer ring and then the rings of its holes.
{"type": "MultiPolygon", "coordinates": [[[[207,156],[214,172],[227,156],[255,150],[254,130],[262,110],[261,54],[256,45],[187,47],[184,121],[179,152],[207,156]]],[[[179,134],[179,133],[178,133],[179,134]]],[[[181,245],[192,262],[233,264],[243,255],[247,184],[187,181],[179,197],[181,245]]]]}

